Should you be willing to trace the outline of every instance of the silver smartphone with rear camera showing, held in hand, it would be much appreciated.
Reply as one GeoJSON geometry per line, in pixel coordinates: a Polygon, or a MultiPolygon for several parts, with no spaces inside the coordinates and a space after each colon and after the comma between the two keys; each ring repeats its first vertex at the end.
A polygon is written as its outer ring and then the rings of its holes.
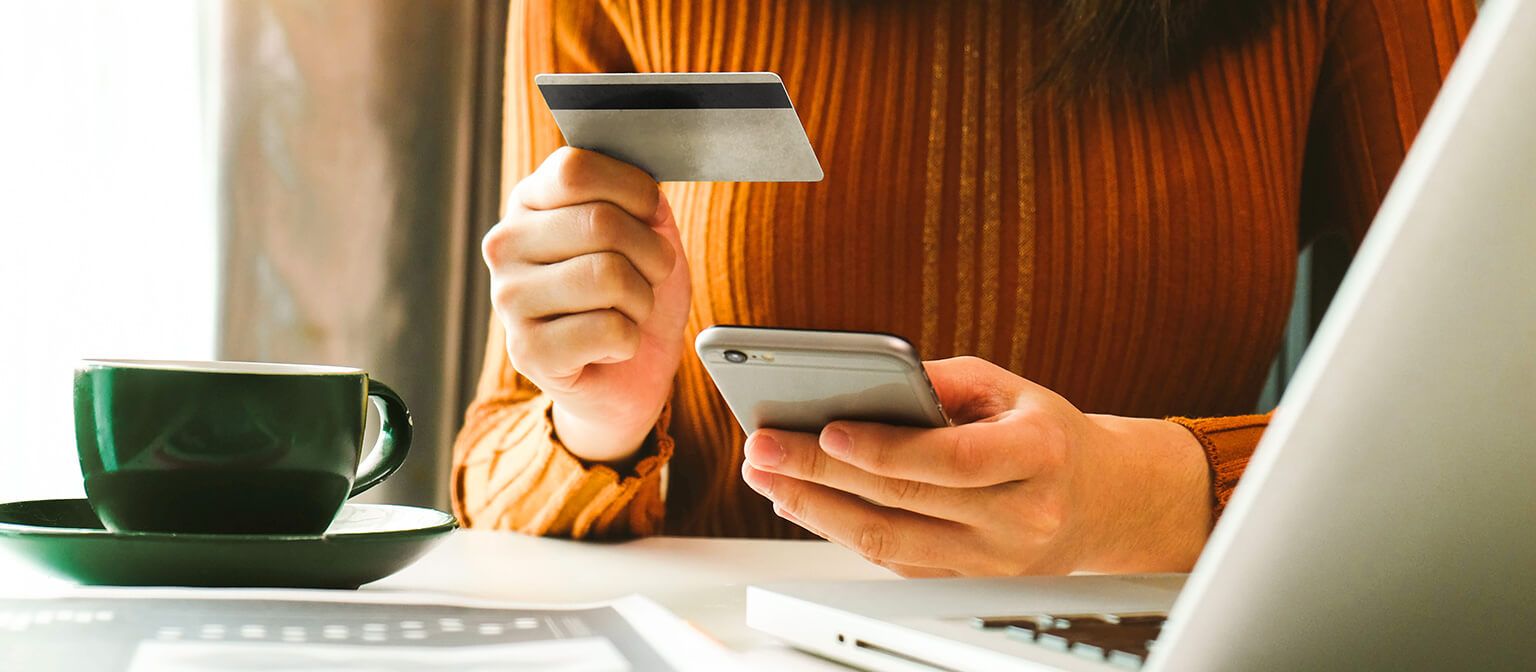
{"type": "Polygon", "coordinates": [[[833,420],[948,427],[917,350],[883,333],[710,327],[694,350],[746,433],[833,420]]]}

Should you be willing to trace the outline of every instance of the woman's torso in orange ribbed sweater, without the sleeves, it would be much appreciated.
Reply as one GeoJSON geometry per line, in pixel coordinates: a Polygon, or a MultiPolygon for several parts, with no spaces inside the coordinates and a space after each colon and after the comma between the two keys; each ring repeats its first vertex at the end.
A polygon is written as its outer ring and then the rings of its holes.
{"type": "MultiPolygon", "coordinates": [[[[1032,84],[1035,3],[611,2],[636,69],[779,72],[819,184],[668,184],[711,324],[879,330],[1084,411],[1253,410],[1295,273],[1322,17],[1150,91],[1032,84]]],[[[667,531],[803,535],[739,479],[699,362],[673,397],[667,531]]]]}

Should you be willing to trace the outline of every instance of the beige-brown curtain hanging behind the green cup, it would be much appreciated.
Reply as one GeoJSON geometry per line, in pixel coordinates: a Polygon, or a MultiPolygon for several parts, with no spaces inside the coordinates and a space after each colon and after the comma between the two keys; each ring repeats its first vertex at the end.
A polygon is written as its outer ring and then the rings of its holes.
{"type": "Polygon", "coordinates": [[[479,367],[505,0],[227,0],[220,356],[367,368],[410,405],[367,497],[444,506],[479,367]]]}

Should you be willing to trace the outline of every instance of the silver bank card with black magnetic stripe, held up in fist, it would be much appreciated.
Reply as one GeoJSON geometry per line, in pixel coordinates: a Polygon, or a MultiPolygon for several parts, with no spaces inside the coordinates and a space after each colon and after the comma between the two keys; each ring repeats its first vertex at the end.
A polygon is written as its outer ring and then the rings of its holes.
{"type": "Polygon", "coordinates": [[[538,75],[571,147],[662,183],[817,183],[805,127],[773,72],[538,75]]]}

